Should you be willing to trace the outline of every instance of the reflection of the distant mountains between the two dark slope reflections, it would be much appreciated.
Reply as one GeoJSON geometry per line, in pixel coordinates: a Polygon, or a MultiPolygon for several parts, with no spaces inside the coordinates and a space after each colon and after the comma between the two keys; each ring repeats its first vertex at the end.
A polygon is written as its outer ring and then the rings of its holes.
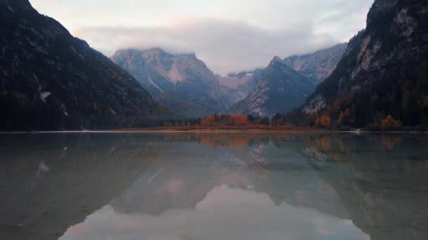
{"type": "Polygon", "coordinates": [[[297,147],[305,135],[191,133],[176,137],[200,143],[177,145],[153,162],[125,194],[111,202],[115,211],[159,214],[171,208],[194,208],[213,188],[228,185],[266,193],[277,206],[287,202],[347,218],[334,189],[317,177],[298,152],[284,147],[297,147]]]}

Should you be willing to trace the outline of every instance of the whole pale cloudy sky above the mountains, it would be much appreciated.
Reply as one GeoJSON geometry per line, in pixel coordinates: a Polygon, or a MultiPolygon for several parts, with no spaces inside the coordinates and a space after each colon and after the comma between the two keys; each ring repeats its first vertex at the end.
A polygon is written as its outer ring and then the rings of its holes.
{"type": "Polygon", "coordinates": [[[160,47],[196,53],[220,74],[348,41],[373,1],[30,0],[107,56],[160,47]]]}

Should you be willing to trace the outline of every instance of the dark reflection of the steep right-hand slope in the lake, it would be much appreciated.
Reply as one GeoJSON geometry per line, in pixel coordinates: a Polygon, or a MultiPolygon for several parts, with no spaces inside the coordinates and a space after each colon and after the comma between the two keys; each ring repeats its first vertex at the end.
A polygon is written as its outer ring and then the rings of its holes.
{"type": "Polygon", "coordinates": [[[424,156],[427,140],[420,135],[332,136],[331,147],[317,144],[333,161],[340,146],[348,147],[346,164],[317,165],[344,202],[354,224],[371,239],[428,239],[428,180],[424,156]],[[341,143],[339,143],[341,142],[341,143]],[[338,147],[332,147],[332,146],[338,147]]]}

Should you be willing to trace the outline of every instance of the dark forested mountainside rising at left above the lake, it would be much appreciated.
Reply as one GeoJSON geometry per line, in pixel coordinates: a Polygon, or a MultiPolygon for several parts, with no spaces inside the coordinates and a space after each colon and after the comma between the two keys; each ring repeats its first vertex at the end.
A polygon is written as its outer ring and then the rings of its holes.
{"type": "Polygon", "coordinates": [[[170,114],[123,69],[27,0],[0,0],[0,129],[145,126],[170,114]]]}

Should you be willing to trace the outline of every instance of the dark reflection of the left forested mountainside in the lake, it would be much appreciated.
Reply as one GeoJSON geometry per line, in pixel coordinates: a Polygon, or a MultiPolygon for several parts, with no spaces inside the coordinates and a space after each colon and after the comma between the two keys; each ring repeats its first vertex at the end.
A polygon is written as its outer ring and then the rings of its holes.
{"type": "Polygon", "coordinates": [[[168,146],[138,135],[0,135],[0,239],[56,239],[168,146]]]}

